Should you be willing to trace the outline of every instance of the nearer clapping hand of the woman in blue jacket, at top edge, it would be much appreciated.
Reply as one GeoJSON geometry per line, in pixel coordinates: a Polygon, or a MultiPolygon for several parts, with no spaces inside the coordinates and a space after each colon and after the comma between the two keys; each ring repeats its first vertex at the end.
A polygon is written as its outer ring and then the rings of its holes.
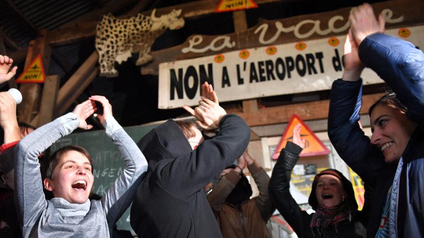
{"type": "Polygon", "coordinates": [[[379,21],[377,21],[373,7],[369,4],[363,4],[359,7],[352,8],[349,20],[352,36],[358,45],[367,35],[376,32],[384,32],[385,21],[383,16],[380,15],[379,21]]]}

